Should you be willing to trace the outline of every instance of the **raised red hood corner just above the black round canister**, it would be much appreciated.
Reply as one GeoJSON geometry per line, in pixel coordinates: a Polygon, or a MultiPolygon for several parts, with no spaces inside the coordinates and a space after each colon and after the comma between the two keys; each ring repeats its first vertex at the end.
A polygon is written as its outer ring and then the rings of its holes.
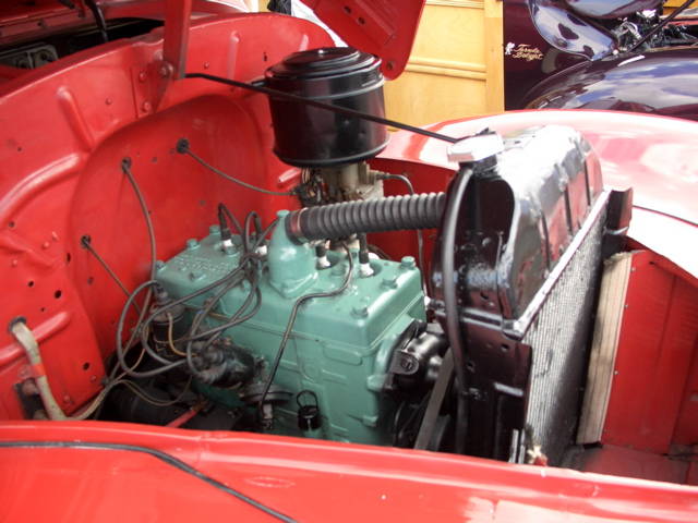
{"type": "Polygon", "coordinates": [[[383,60],[383,74],[397,77],[410,56],[425,0],[303,0],[347,44],[383,60]]]}

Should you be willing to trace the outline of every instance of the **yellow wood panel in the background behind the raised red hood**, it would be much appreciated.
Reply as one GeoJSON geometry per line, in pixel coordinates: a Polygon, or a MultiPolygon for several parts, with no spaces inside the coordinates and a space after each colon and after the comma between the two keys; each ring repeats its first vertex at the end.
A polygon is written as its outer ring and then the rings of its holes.
{"type": "Polygon", "coordinates": [[[387,82],[389,118],[424,125],[504,110],[502,2],[428,0],[407,68],[387,82]]]}

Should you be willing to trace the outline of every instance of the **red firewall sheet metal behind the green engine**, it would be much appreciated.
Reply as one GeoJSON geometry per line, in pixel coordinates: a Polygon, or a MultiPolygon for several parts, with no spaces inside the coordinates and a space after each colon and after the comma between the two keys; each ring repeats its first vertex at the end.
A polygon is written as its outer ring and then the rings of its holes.
{"type": "MultiPolygon", "coordinates": [[[[99,389],[124,301],[81,236],[92,238],[128,288],[148,270],[143,217],[120,170],[124,156],[133,160],[164,259],[207,233],[219,202],[239,216],[254,208],[265,221],[298,205],[240,190],[176,154],[177,139],[186,136],[212,163],[257,185],[284,188],[298,175],[272,154],[263,96],[184,80],[172,83],[154,114],[160,77],[149,65],[161,56],[161,34],[83,51],[0,84],[0,165],[12,166],[0,177],[0,287],[13,296],[3,302],[0,325],[22,315],[40,333],[49,381],[68,413],[99,389]]],[[[197,22],[188,64],[252,80],[290,52],[330,41],[316,25],[288,16],[197,22]]],[[[0,328],[0,418],[23,416],[13,386],[26,377],[21,348],[0,328]]]]}

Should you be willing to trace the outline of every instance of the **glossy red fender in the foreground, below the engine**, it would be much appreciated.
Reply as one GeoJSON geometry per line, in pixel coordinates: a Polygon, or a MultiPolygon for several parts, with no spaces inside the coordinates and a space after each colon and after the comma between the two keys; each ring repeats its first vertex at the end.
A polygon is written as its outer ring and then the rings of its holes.
{"type": "MultiPolygon", "coordinates": [[[[696,488],[431,452],[106,423],[4,424],[0,438],[160,449],[302,522],[693,522],[698,510],[696,488]]],[[[11,521],[273,521],[142,454],[0,449],[0,463],[11,521]]]]}

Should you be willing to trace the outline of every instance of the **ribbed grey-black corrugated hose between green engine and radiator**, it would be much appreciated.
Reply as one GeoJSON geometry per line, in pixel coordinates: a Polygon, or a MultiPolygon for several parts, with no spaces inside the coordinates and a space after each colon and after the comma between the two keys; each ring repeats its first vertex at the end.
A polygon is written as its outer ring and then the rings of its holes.
{"type": "Polygon", "coordinates": [[[433,229],[441,224],[445,193],[388,196],[306,207],[286,220],[289,236],[298,240],[336,240],[361,232],[433,229]]]}

